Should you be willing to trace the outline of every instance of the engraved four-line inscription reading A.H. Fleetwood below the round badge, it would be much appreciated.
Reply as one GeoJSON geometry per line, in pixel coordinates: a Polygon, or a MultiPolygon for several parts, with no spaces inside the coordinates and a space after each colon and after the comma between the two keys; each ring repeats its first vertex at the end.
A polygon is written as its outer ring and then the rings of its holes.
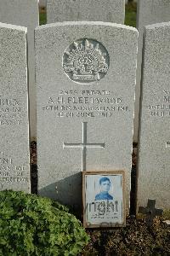
{"type": "Polygon", "coordinates": [[[123,97],[110,90],[59,90],[42,106],[43,112],[54,113],[56,118],[114,118],[129,110],[123,97]]]}

